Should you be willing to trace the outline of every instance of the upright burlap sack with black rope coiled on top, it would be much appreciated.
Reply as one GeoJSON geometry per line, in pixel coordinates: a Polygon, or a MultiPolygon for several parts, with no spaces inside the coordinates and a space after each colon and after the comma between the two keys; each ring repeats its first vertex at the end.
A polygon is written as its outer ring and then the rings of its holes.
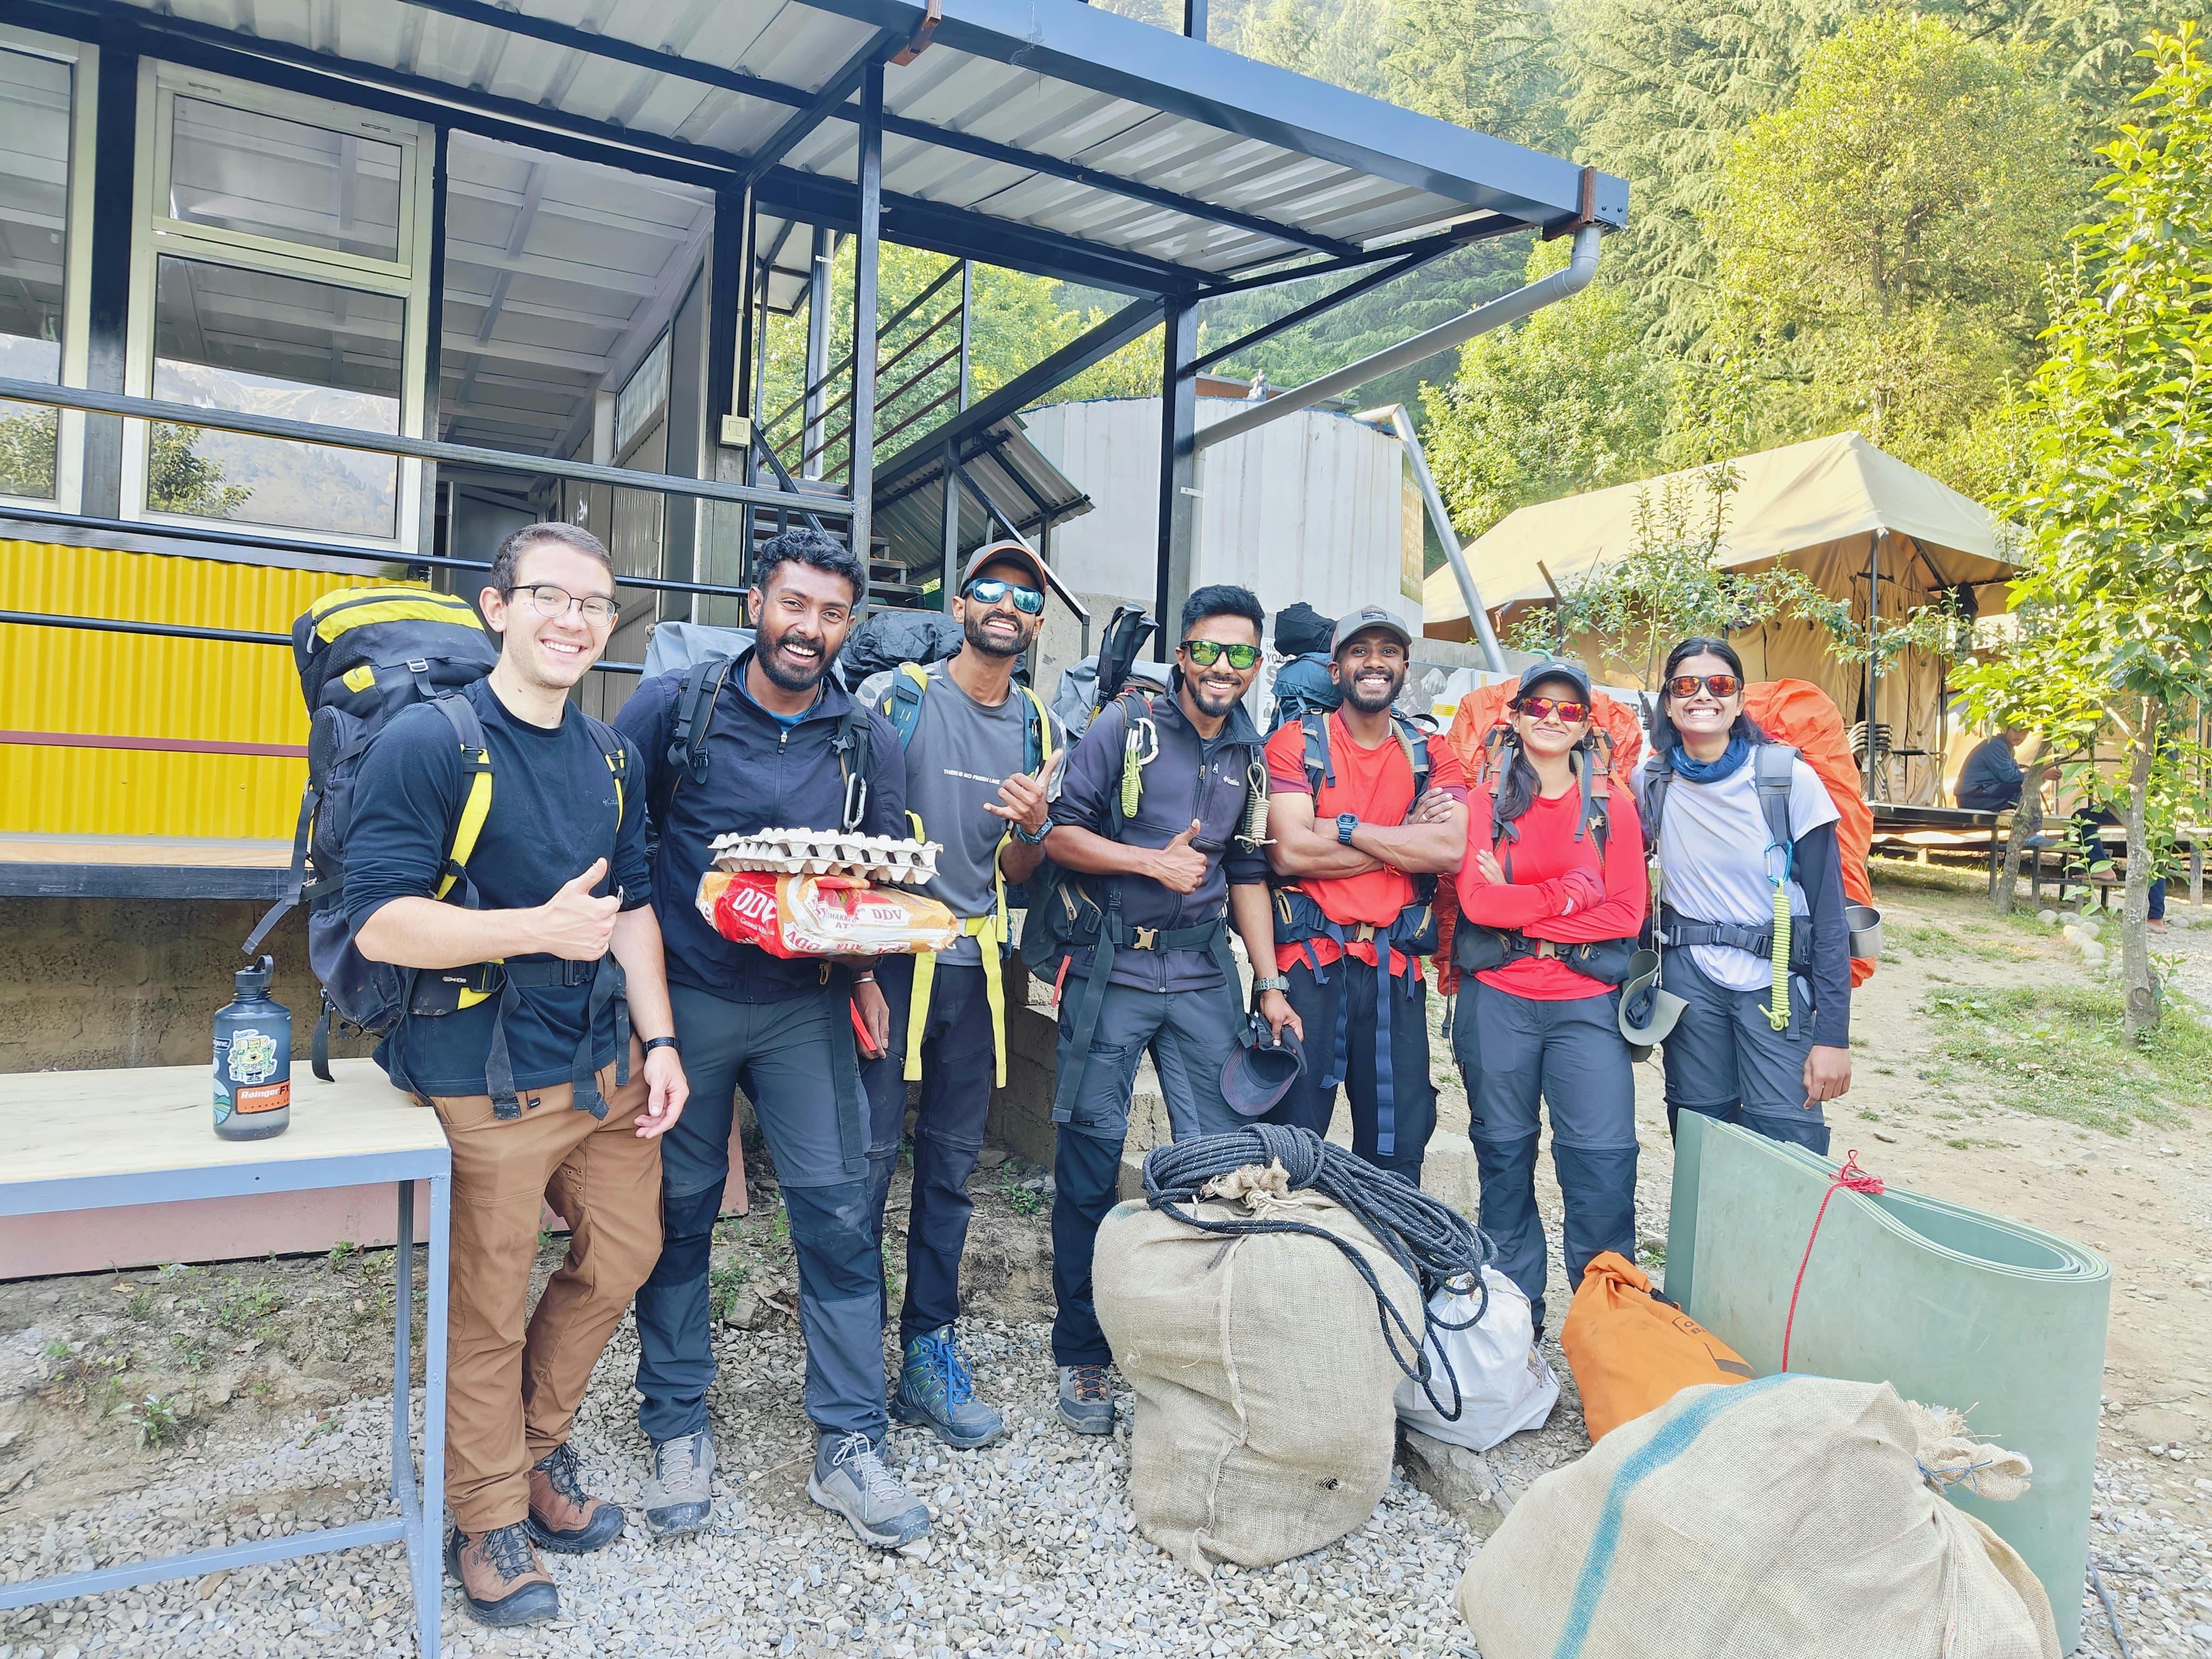
{"type": "MultiPolygon", "coordinates": [[[[1420,1292],[1349,1210],[1239,1170],[1212,1219],[1270,1214],[1352,1241],[1418,1334],[1420,1292]]],[[[1221,1186],[1221,1183],[1217,1183],[1221,1186]]],[[[1376,1294],[1336,1245],[1221,1239],[1144,1203],[1099,1228],[1099,1325],[1137,1389],[1137,1526],[1197,1571],[1270,1566],[1360,1526],[1389,1486],[1398,1367],[1376,1294]]]]}

